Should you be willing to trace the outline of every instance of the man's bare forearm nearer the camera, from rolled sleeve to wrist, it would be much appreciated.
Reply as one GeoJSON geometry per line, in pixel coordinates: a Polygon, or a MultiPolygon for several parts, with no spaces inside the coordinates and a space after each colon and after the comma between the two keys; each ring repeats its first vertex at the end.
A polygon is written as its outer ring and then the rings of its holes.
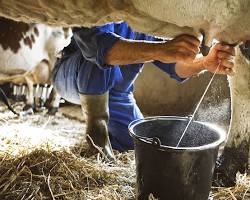
{"type": "Polygon", "coordinates": [[[162,42],[119,40],[105,56],[109,65],[145,63],[160,57],[162,42]]]}

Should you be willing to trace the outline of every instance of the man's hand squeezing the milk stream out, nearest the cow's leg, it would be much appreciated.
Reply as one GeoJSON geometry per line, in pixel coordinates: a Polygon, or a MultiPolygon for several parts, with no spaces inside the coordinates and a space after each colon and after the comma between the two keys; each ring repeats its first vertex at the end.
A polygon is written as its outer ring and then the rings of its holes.
{"type": "Polygon", "coordinates": [[[212,47],[209,51],[209,54],[204,57],[203,66],[206,70],[215,72],[219,65],[219,74],[233,75],[234,56],[234,47],[218,43],[214,47],[212,47]]]}

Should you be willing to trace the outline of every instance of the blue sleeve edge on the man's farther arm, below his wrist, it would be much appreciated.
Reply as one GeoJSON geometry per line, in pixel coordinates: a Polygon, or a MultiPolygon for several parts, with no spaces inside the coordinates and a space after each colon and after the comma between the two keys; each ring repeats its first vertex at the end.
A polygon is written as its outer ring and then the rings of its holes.
{"type": "Polygon", "coordinates": [[[177,80],[178,82],[184,82],[188,78],[181,78],[175,72],[175,64],[176,63],[162,63],[160,61],[153,62],[158,68],[168,73],[171,78],[177,80]]]}

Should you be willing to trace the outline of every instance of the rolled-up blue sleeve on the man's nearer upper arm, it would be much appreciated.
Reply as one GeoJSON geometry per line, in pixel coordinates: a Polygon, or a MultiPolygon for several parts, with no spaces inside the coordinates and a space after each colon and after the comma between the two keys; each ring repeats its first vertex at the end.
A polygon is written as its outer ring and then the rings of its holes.
{"type": "Polygon", "coordinates": [[[105,56],[120,36],[112,32],[104,32],[98,27],[78,28],[74,30],[74,39],[85,59],[95,63],[101,69],[112,67],[105,63],[105,56]]]}

